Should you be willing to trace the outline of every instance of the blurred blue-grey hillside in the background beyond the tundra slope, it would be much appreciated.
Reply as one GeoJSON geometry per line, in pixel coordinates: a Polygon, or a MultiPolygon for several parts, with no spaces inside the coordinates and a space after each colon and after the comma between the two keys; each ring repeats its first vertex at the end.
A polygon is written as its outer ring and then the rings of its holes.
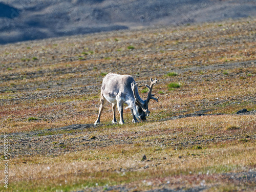
{"type": "Polygon", "coordinates": [[[0,44],[248,16],[256,16],[256,0],[6,0],[0,2],[0,44]]]}

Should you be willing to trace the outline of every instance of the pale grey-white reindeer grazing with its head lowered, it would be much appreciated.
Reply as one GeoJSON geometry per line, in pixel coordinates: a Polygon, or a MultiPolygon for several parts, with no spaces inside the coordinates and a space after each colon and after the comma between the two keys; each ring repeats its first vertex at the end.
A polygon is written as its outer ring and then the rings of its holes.
{"type": "MultiPolygon", "coordinates": [[[[153,81],[151,78],[151,85],[145,85],[148,88],[148,95],[146,100],[142,100],[138,92],[138,84],[135,83],[134,78],[130,75],[118,75],[114,73],[109,73],[106,75],[102,82],[101,92],[100,92],[100,107],[98,119],[94,123],[95,125],[100,123],[100,116],[103,111],[106,101],[112,103],[113,110],[113,120],[112,123],[116,123],[116,105],[120,113],[120,124],[123,124],[123,103],[126,103],[133,114],[133,122],[138,122],[139,120],[145,121],[146,116],[150,114],[148,111],[148,102],[150,99],[154,99],[158,102],[158,98],[153,97],[151,94],[153,85],[157,83],[157,78],[153,81]]],[[[127,109],[125,108],[125,109],[127,109]]]]}

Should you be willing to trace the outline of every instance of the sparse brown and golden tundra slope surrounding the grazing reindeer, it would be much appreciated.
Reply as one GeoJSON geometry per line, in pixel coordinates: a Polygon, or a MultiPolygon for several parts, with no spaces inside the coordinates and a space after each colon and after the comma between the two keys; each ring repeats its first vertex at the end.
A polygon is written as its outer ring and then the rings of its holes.
{"type": "Polygon", "coordinates": [[[255,32],[244,18],[1,46],[8,191],[253,191],[255,32]],[[157,77],[147,122],[127,109],[112,124],[106,104],[93,124],[109,72],[132,75],[143,98],[157,77]]]}

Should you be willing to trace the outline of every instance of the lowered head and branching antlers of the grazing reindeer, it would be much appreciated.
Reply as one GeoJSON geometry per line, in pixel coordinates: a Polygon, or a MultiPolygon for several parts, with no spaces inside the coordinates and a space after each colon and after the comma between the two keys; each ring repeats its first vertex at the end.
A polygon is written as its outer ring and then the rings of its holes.
{"type": "Polygon", "coordinates": [[[147,95],[147,99],[146,100],[141,100],[138,94],[138,91],[136,91],[136,87],[138,86],[137,83],[132,82],[131,86],[132,86],[132,90],[133,90],[133,95],[134,95],[134,103],[136,105],[136,109],[135,109],[135,116],[137,116],[140,120],[145,121],[146,120],[146,116],[150,115],[150,111],[148,111],[148,102],[150,102],[150,99],[154,99],[155,101],[158,102],[158,98],[153,97],[154,95],[151,94],[152,89],[153,89],[153,85],[155,83],[157,83],[157,78],[155,78],[155,80],[153,81],[153,79],[150,79],[151,81],[151,85],[148,86],[147,84],[145,84],[145,86],[148,88],[148,95],[147,95]]]}

